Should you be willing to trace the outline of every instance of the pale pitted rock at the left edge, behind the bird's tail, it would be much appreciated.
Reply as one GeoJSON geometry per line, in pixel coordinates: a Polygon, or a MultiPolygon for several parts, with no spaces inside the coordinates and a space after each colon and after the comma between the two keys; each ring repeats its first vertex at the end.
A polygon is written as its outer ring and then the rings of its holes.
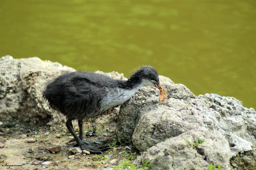
{"type": "Polygon", "coordinates": [[[0,121],[17,117],[36,126],[65,121],[65,116],[49,109],[42,91],[48,81],[75,69],[36,57],[4,56],[0,59],[0,70],[0,121]]]}

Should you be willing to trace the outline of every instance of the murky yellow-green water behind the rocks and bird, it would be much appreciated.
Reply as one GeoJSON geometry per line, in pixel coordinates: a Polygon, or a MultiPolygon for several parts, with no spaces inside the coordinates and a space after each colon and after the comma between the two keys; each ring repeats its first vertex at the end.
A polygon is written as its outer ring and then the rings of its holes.
{"type": "Polygon", "coordinates": [[[195,95],[256,109],[256,1],[1,0],[0,56],[77,70],[151,65],[195,95]]]}

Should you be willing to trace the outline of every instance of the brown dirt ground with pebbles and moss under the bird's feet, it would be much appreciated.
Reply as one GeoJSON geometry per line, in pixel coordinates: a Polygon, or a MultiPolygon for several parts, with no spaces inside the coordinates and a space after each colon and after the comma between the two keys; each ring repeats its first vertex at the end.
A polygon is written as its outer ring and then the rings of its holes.
{"type": "MultiPolygon", "coordinates": [[[[135,168],[137,152],[131,145],[115,140],[117,114],[114,112],[83,122],[85,140],[107,141],[111,149],[102,154],[71,153],[74,142],[65,122],[50,127],[29,127],[22,122],[2,122],[0,126],[0,169],[113,169],[135,168]],[[1,146],[1,145],[0,145],[1,146]],[[61,146],[58,152],[47,146],[61,146]]],[[[77,121],[73,127],[78,133],[77,121]]],[[[136,169],[147,169],[136,167],[136,169]]]]}

